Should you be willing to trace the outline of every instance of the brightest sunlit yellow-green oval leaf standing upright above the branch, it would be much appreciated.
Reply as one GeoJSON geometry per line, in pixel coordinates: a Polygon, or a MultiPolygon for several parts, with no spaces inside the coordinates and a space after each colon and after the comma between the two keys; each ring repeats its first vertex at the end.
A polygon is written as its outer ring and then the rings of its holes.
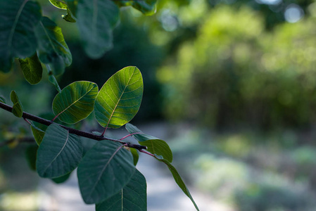
{"type": "Polygon", "coordinates": [[[116,72],[96,96],[96,120],[103,127],[119,128],[126,124],[141,106],[143,89],[143,78],[138,68],[127,67],[116,72]]]}

